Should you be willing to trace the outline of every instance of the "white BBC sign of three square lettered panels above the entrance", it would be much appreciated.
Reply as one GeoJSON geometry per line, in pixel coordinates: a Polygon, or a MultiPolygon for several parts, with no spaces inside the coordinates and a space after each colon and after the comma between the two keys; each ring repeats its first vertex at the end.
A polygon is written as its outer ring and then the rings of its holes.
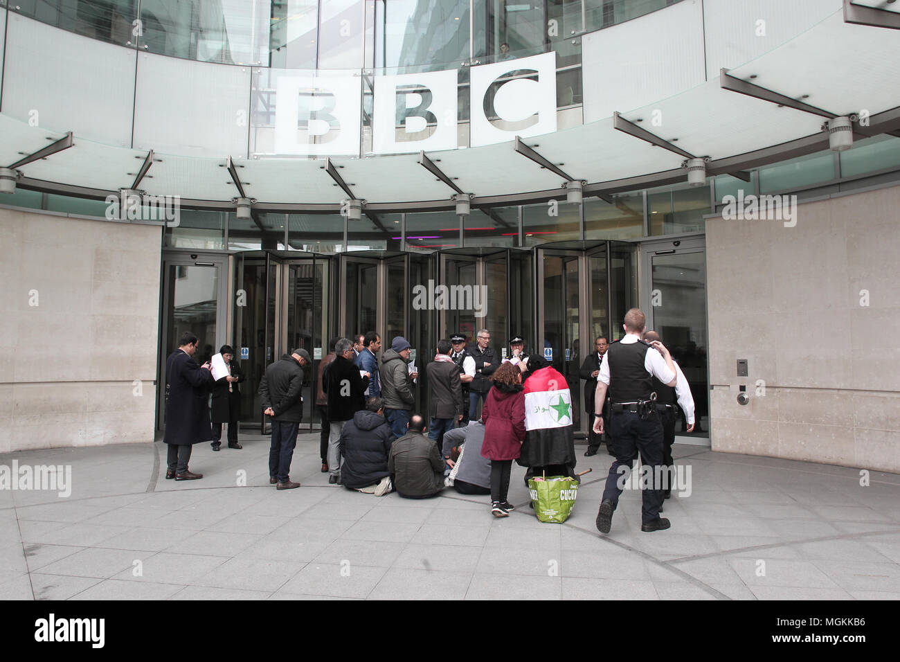
{"type": "MultiPolygon", "coordinates": [[[[470,83],[473,147],[556,131],[555,53],[473,67],[470,83]]],[[[276,153],[359,154],[359,77],[279,76],[275,89],[276,153]]],[[[455,69],[374,77],[373,151],[455,150],[457,112],[455,69]]]]}

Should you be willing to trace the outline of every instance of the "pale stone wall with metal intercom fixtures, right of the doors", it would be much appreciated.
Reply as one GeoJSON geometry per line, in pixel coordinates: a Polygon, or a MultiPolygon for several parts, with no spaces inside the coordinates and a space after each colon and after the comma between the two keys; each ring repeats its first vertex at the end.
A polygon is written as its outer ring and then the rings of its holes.
{"type": "Polygon", "coordinates": [[[796,227],[707,220],[714,450],[900,472],[898,210],[892,186],[800,204],[796,227]]]}

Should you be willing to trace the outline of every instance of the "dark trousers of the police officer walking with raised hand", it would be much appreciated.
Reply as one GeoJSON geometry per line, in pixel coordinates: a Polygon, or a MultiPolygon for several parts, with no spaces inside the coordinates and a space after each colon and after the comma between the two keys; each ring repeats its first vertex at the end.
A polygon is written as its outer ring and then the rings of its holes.
{"type": "Polygon", "coordinates": [[[644,460],[642,470],[647,471],[647,485],[642,488],[641,521],[644,524],[660,517],[662,505],[662,422],[654,412],[646,421],[634,412],[612,413],[609,432],[613,440],[616,461],[609,467],[603,499],[618,503],[625,479],[635,464],[638,453],[644,460]]]}

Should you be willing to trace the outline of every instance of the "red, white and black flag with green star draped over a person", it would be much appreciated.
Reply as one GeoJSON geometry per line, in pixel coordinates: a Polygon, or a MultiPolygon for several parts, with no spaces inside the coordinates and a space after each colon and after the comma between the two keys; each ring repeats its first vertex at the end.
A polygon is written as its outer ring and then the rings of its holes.
{"type": "Polygon", "coordinates": [[[575,466],[572,394],[565,377],[542,367],[525,382],[525,442],[522,467],[575,466]]]}

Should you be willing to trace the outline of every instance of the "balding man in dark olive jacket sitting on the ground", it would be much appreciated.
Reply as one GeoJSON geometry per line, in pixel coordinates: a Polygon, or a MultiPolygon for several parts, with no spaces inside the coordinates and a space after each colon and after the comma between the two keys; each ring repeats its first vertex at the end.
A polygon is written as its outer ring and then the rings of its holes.
{"type": "Polygon", "coordinates": [[[444,487],[444,460],[424,432],[425,419],[414,414],[407,433],[391,447],[388,470],[397,494],[406,499],[427,499],[444,487]]]}

